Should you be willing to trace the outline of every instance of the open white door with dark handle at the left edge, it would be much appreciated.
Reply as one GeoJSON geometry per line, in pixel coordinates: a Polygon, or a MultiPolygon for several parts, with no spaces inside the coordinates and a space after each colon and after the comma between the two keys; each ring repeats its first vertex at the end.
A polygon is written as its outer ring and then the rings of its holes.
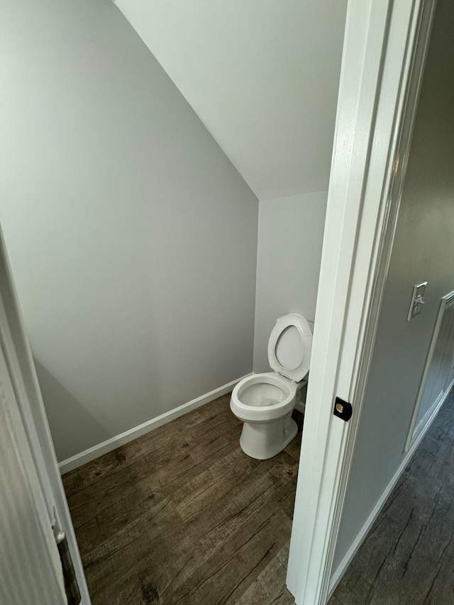
{"type": "Polygon", "coordinates": [[[89,605],[2,237],[0,344],[0,602],[89,605]]]}

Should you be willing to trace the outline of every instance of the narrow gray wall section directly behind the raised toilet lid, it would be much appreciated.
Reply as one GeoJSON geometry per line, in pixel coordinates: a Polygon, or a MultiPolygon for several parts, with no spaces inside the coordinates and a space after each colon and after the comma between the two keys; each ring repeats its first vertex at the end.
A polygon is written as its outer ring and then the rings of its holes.
{"type": "Polygon", "coordinates": [[[276,319],[314,321],[327,192],[260,201],[254,372],[270,372],[267,347],[276,319]]]}

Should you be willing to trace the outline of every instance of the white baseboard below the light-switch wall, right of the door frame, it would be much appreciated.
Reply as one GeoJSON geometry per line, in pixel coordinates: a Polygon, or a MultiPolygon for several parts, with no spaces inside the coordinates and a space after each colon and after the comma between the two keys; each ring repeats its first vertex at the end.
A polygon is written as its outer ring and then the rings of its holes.
{"type": "MultiPolygon", "coordinates": [[[[454,382],[453,382],[453,384],[454,384],[454,382]]],[[[453,384],[451,384],[450,386],[452,387],[453,384]]],[[[345,574],[348,565],[350,565],[350,563],[353,560],[353,557],[358,552],[360,545],[362,544],[363,540],[365,539],[367,533],[370,531],[370,528],[372,527],[375,519],[380,514],[380,511],[382,510],[385,502],[387,501],[389,494],[391,494],[392,490],[394,489],[397,482],[399,481],[402,473],[404,472],[406,465],[408,465],[408,463],[411,460],[411,457],[413,457],[414,453],[416,452],[416,449],[418,448],[418,445],[421,443],[423,436],[426,435],[428,429],[430,428],[431,424],[435,420],[435,418],[436,418],[438,412],[440,411],[441,406],[443,406],[445,399],[448,396],[449,392],[450,392],[450,389],[447,389],[445,394],[443,395],[442,399],[438,402],[436,407],[433,409],[431,416],[430,416],[430,418],[428,418],[426,425],[423,428],[421,428],[421,432],[419,433],[419,435],[416,436],[414,442],[411,444],[411,448],[406,453],[404,460],[402,460],[401,464],[399,465],[399,468],[395,472],[394,476],[392,477],[391,481],[389,482],[389,484],[387,485],[386,489],[384,490],[382,496],[380,497],[380,500],[377,502],[377,504],[375,505],[375,508],[372,510],[372,513],[367,518],[367,521],[365,522],[365,524],[362,526],[360,532],[358,533],[355,540],[353,541],[353,544],[350,546],[347,554],[345,555],[345,557],[343,557],[341,564],[338,566],[336,571],[331,576],[331,581],[330,581],[329,589],[328,589],[328,599],[331,599],[331,596],[332,596],[333,592],[335,591],[336,586],[341,581],[341,578],[345,574]]]]}

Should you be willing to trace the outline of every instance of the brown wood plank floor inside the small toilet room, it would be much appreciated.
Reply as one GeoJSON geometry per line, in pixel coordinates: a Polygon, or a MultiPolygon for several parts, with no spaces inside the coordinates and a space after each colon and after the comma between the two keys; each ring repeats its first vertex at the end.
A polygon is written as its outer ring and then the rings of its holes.
{"type": "Polygon", "coordinates": [[[301,446],[239,446],[230,394],[65,474],[93,605],[282,605],[301,446]]]}

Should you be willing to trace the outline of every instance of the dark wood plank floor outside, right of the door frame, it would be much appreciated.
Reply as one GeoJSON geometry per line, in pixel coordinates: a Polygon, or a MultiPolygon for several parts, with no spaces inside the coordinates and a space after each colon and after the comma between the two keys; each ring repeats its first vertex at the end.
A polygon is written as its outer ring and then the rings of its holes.
{"type": "Polygon", "coordinates": [[[329,605],[454,604],[454,393],[329,605]]]}

